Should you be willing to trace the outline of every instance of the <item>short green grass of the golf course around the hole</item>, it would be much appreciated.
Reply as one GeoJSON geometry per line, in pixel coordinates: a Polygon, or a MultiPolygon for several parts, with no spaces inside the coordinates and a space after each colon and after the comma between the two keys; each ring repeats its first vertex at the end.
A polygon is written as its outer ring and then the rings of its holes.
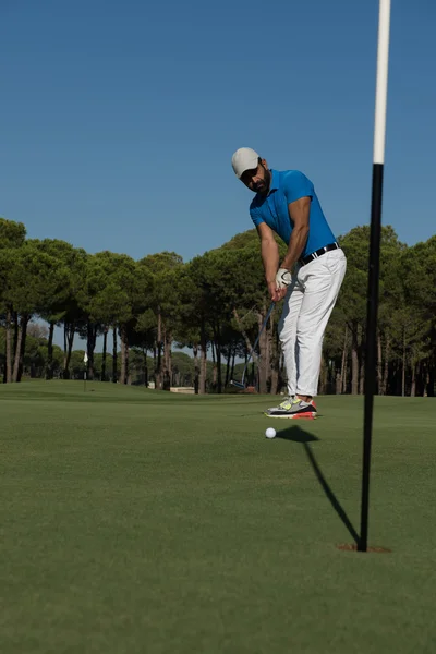
{"type": "Polygon", "coordinates": [[[0,386],[2,654],[436,652],[436,401],[0,386]],[[290,424],[291,423],[291,424],[290,424]],[[267,440],[274,426],[281,435],[267,440]]]}

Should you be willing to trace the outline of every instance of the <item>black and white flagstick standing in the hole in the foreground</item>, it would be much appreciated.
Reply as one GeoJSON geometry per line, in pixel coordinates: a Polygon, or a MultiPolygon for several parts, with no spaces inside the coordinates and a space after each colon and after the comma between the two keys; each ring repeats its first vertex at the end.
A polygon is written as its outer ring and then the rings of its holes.
{"type": "Polygon", "coordinates": [[[382,234],[383,173],[385,165],[386,100],[388,89],[390,0],[379,0],[377,84],[375,96],[373,191],[371,205],[370,272],[366,306],[366,351],[365,351],[365,404],[363,426],[363,471],[361,533],[359,552],[367,552],[371,441],[373,431],[373,407],[376,389],[376,342],[378,276],[382,234]]]}

